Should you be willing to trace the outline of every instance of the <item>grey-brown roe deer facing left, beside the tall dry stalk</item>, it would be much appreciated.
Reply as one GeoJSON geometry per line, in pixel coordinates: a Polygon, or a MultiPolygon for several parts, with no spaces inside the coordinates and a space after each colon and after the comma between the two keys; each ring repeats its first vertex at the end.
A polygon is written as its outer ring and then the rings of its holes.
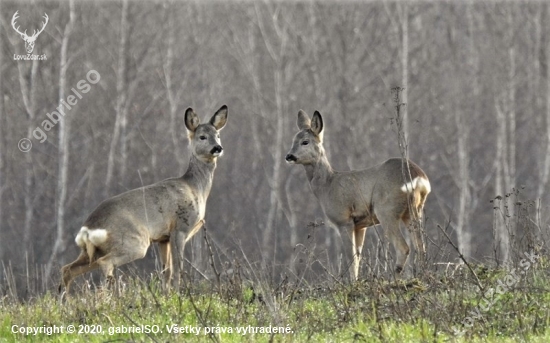
{"type": "MultiPolygon", "coordinates": [[[[323,148],[323,118],[317,111],[310,120],[298,113],[299,132],[286,155],[290,164],[302,164],[315,196],[329,221],[350,235],[353,270],[357,280],[361,250],[367,227],[382,224],[396,251],[396,272],[401,273],[409,256],[409,246],[401,234],[399,222],[409,225],[420,220],[430,193],[426,174],[411,161],[391,158],[377,166],[345,172],[334,171],[323,148]],[[408,164],[408,168],[406,165],[408,164]]],[[[414,244],[423,258],[425,247],[420,230],[414,244]]]]}

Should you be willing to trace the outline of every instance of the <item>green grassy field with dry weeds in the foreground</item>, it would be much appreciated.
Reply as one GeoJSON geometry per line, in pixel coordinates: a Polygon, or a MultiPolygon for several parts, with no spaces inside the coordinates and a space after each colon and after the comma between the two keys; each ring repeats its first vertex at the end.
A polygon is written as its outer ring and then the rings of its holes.
{"type": "Polygon", "coordinates": [[[236,272],[179,294],[156,279],[123,276],[106,291],[80,278],[64,299],[4,295],[0,342],[548,342],[548,260],[526,256],[516,269],[356,283],[272,285],[236,272]]]}

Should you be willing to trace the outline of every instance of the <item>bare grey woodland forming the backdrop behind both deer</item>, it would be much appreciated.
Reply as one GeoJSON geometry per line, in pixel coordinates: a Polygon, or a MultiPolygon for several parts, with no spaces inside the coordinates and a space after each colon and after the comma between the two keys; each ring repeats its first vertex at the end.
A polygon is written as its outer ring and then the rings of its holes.
{"type": "MultiPolygon", "coordinates": [[[[304,109],[323,114],[337,170],[400,156],[394,87],[407,154],[432,186],[432,262],[458,261],[441,229],[467,259],[492,264],[548,230],[548,3],[1,1],[0,20],[0,287],[29,266],[50,287],[103,199],[180,176],[188,107],[205,120],[226,104],[230,117],[207,229],[186,250],[199,273],[205,235],[227,268],[246,256],[276,279],[312,254],[316,275],[341,272],[347,241],[284,155],[304,109]],[[46,60],[14,59],[26,54],[16,11],[28,32],[47,13],[33,52],[46,60]],[[99,82],[34,138],[90,70],[99,82]]],[[[382,237],[369,230],[366,255],[382,237]]],[[[144,273],[156,254],[139,262],[144,273]]]]}

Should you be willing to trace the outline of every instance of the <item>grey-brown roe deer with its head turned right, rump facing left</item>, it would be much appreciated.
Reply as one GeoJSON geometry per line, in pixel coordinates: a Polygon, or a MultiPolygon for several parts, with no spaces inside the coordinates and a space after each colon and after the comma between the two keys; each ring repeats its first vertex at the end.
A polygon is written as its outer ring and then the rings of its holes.
{"type": "Polygon", "coordinates": [[[170,288],[172,277],[171,251],[176,254],[179,263],[175,264],[175,286],[179,286],[185,243],[204,223],[216,160],[223,153],[219,131],[226,121],[225,105],[204,124],[188,108],[185,126],[191,156],[184,175],[122,193],[99,204],[76,236],[80,256],[61,269],[67,293],[75,277],[96,268],[101,268],[107,284],[112,284],[114,268],[143,258],[152,242],[160,247],[165,289],[170,288]]]}

